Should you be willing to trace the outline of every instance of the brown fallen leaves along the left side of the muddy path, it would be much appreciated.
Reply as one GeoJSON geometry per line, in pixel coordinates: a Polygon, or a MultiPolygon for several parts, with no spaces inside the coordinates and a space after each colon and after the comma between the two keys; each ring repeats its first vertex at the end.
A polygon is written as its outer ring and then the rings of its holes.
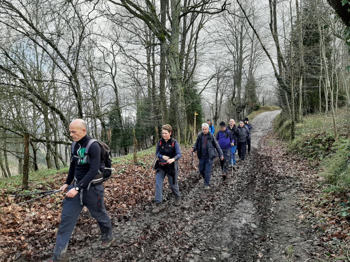
{"type": "MultiPolygon", "coordinates": [[[[184,147],[181,149],[183,157],[179,160],[181,165],[179,181],[184,181],[191,174],[191,153],[189,149],[184,147]]],[[[153,170],[150,175],[151,167],[142,177],[152,159],[153,154],[138,158],[139,163],[143,162],[144,165],[134,163],[113,165],[116,173],[112,174],[111,179],[104,182],[106,209],[112,219],[128,219],[132,217],[135,209],[141,209],[142,206],[153,203],[155,171],[153,170]]],[[[197,166],[196,157],[194,157],[195,166],[197,166]]],[[[66,175],[56,176],[52,184],[53,188],[59,188],[64,183],[66,175]]],[[[166,181],[165,187],[168,187],[166,181]]],[[[6,192],[6,194],[9,193],[6,192]]],[[[62,201],[65,193],[40,198],[21,206],[16,203],[30,199],[30,197],[14,199],[7,197],[6,194],[5,191],[1,192],[1,260],[14,261],[19,257],[25,258],[26,261],[44,259],[51,254],[55,245],[55,235],[61,221],[62,201]]],[[[75,229],[78,233],[74,234],[71,240],[73,242],[84,241],[99,235],[97,224],[92,222],[89,212],[84,208],[75,229]]]]}

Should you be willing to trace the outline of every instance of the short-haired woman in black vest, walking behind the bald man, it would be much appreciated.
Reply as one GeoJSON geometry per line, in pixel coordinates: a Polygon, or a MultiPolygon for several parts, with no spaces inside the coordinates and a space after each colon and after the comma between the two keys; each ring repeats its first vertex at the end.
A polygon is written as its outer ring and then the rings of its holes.
{"type": "Polygon", "coordinates": [[[165,176],[168,176],[170,189],[175,196],[175,206],[181,204],[181,195],[179,184],[177,184],[177,176],[179,174],[179,166],[177,160],[181,158],[180,145],[177,140],[170,138],[172,134],[171,125],[162,126],[162,139],[157,143],[155,154],[158,155],[158,160],[155,163],[155,207],[152,210],[153,214],[158,214],[164,209],[162,204],[163,184],[165,176]]]}

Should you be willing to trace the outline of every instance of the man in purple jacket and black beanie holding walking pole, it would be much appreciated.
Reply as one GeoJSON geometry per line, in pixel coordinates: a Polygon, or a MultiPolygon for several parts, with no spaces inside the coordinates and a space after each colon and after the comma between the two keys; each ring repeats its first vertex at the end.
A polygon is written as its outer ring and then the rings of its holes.
{"type": "Polygon", "coordinates": [[[226,179],[229,170],[229,159],[231,157],[231,146],[235,145],[235,140],[232,138],[232,133],[226,128],[225,122],[219,123],[220,130],[216,133],[216,140],[224,154],[224,159],[220,160],[222,178],[226,179]]]}

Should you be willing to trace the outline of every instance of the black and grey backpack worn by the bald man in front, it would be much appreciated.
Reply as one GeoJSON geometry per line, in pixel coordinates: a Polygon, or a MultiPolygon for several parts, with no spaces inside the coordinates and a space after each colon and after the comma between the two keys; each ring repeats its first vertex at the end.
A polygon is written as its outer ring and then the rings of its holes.
{"type": "MultiPolygon", "coordinates": [[[[107,146],[105,143],[103,143],[100,140],[90,139],[85,147],[85,156],[84,158],[81,158],[81,159],[89,162],[88,153],[89,153],[89,148],[93,142],[97,142],[101,148],[101,161],[100,161],[100,168],[98,170],[98,174],[94,177],[94,179],[90,182],[90,184],[91,183],[96,184],[99,182],[106,181],[111,177],[111,174],[112,174],[112,159],[111,159],[112,153],[110,151],[109,146],[107,146]]],[[[71,146],[71,154],[72,154],[71,161],[73,161],[73,157],[77,157],[77,156],[73,156],[74,147],[76,144],[77,144],[76,142],[73,142],[71,146]]],[[[90,187],[90,184],[89,184],[89,187],[90,187]]]]}

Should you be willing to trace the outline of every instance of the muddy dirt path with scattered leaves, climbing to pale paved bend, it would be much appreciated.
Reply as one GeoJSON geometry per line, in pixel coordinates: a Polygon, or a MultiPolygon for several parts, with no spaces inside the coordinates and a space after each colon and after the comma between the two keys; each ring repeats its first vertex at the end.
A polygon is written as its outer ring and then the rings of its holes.
{"type": "MultiPolygon", "coordinates": [[[[194,171],[192,179],[179,181],[179,208],[166,189],[164,211],[153,215],[150,199],[132,216],[113,220],[117,242],[112,249],[98,250],[96,234],[83,248],[81,243],[71,243],[70,261],[280,261],[278,255],[261,252],[274,248],[262,242],[271,230],[268,221],[274,185],[285,178],[275,176],[271,157],[259,152],[259,142],[279,112],[255,117],[251,155],[243,165],[236,166],[228,179],[222,181],[216,161],[211,190],[204,191],[200,174],[194,171]]],[[[89,216],[88,212],[84,215],[89,216]]]]}

